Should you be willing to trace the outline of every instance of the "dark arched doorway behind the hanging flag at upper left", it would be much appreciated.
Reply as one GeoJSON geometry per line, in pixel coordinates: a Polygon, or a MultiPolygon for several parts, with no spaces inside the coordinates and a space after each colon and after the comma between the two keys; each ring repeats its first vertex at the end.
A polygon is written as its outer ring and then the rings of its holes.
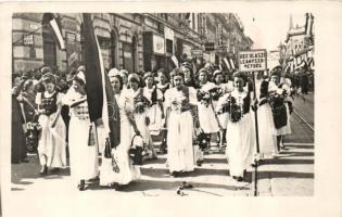
{"type": "Polygon", "coordinates": [[[42,49],[43,49],[43,63],[50,67],[56,66],[56,46],[52,33],[51,14],[46,13],[42,16],[42,49]]]}

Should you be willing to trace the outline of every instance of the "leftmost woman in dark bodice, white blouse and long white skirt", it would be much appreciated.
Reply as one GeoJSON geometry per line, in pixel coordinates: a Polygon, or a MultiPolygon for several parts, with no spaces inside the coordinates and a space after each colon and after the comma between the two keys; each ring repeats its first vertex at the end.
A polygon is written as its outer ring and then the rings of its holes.
{"type": "Polygon", "coordinates": [[[55,91],[55,77],[46,74],[42,77],[46,91],[37,93],[39,125],[41,132],[38,154],[41,165],[40,175],[47,175],[48,168],[58,171],[66,166],[66,127],[61,116],[63,93],[55,91]]]}

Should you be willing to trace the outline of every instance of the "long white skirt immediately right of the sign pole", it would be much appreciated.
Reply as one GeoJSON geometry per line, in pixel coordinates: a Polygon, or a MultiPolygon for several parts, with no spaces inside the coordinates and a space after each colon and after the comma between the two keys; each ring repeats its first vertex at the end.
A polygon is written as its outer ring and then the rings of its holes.
{"type": "MultiPolygon", "coordinates": [[[[255,126],[255,118],[253,114],[253,125],[255,126]]],[[[277,140],[275,135],[276,128],[274,116],[269,104],[263,104],[257,110],[257,126],[258,126],[258,144],[259,152],[266,157],[277,154],[277,140]]],[[[254,142],[254,153],[256,152],[256,140],[254,142]]]]}

